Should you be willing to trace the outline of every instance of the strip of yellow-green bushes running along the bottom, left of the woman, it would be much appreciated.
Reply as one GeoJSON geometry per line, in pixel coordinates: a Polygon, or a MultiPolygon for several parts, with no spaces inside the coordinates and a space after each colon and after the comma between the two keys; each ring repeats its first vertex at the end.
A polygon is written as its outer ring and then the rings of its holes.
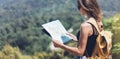
{"type": "Polygon", "coordinates": [[[18,47],[12,47],[6,44],[0,51],[0,59],[71,59],[72,55],[59,51],[36,52],[33,55],[22,54],[18,47]],[[67,56],[65,56],[67,54],[67,56]]]}

